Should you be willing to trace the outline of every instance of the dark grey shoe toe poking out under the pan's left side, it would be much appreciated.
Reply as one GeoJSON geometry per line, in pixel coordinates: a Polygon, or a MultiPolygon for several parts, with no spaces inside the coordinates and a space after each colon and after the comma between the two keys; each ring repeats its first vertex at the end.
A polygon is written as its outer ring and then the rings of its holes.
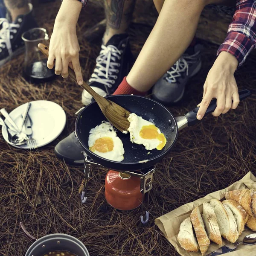
{"type": "Polygon", "coordinates": [[[82,165],[84,163],[84,156],[81,152],[84,151],[76,137],[75,131],[61,140],[54,149],[57,157],[69,164],[82,165]]]}

